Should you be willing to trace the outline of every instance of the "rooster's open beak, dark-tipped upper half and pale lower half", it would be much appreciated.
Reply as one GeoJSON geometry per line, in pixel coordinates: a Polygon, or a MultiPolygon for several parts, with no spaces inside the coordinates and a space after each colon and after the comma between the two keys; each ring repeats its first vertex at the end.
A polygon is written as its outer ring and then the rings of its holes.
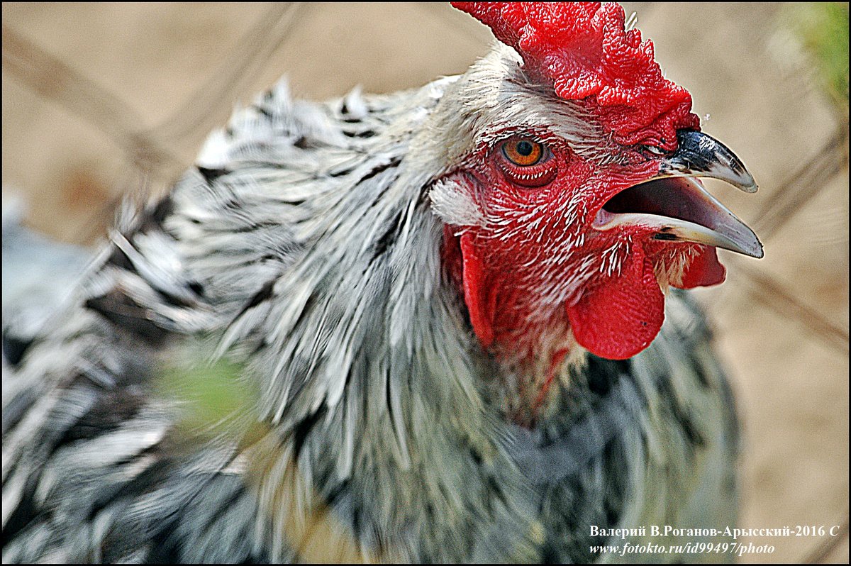
{"type": "Polygon", "coordinates": [[[697,179],[721,179],[741,191],[756,192],[745,165],[727,146],[701,132],[681,130],[677,138],[677,152],[665,159],[659,174],[609,199],[594,227],[645,226],[657,240],[704,243],[761,258],[757,235],[697,179]]]}

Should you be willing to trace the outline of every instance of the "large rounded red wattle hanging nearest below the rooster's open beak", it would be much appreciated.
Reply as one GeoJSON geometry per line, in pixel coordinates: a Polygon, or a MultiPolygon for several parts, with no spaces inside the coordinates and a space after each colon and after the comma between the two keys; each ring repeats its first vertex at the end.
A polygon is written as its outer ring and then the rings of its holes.
{"type": "Polygon", "coordinates": [[[620,360],[641,352],[665,320],[665,295],[653,262],[643,250],[634,250],[620,277],[612,277],[568,306],[568,320],[576,341],[592,354],[620,360]]]}

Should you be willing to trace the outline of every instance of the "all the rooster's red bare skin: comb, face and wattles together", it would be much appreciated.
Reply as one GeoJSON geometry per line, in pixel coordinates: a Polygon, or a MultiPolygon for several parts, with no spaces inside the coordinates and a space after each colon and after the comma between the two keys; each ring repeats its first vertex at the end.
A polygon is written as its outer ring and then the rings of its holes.
{"type": "MultiPolygon", "coordinates": [[[[448,226],[444,260],[483,347],[545,376],[534,414],[554,369],[575,348],[571,334],[598,356],[634,356],[664,320],[660,279],[683,288],[723,281],[714,248],[655,240],[658,228],[647,226],[592,226],[609,198],[659,172],[661,157],[635,148],[673,152],[677,131],[700,129],[700,119],[688,91],[663,76],[653,43],[625,29],[615,3],[453,4],[517,51],[528,80],[594,117],[610,144],[600,152],[620,152],[598,165],[563,140],[541,139],[554,169],[529,183],[506,166],[500,141],[459,172],[486,220],[448,226]]],[[[511,134],[535,138],[506,132],[505,139],[511,134]]]]}

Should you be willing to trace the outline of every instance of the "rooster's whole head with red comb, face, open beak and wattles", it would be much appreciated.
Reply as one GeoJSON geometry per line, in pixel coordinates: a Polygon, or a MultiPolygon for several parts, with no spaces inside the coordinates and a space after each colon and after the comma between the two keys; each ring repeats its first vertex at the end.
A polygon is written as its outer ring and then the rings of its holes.
{"type": "Polygon", "coordinates": [[[551,357],[572,340],[631,357],[660,331],[669,286],[723,281],[717,248],[762,257],[697,179],[754,192],[751,174],[700,132],[619,5],[454,6],[503,43],[448,89],[431,128],[452,163],[431,201],[484,347],[524,357],[549,337],[551,357]]]}

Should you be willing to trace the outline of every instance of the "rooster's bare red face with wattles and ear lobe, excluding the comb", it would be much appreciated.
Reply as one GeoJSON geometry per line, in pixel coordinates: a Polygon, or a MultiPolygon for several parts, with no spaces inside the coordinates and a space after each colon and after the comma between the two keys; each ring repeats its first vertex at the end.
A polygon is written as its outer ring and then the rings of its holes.
{"type": "Polygon", "coordinates": [[[680,288],[723,281],[714,248],[654,240],[658,228],[592,227],[609,198],[658,173],[660,157],[630,149],[620,164],[598,167],[551,141],[547,160],[534,166],[547,169],[543,184],[522,186],[518,175],[528,168],[512,165],[502,143],[466,171],[488,223],[452,227],[446,236],[445,259],[455,266],[483,347],[514,359],[551,355],[542,350],[542,337],[569,329],[598,356],[631,357],[650,344],[664,320],[657,278],[665,277],[663,266],[694,258],[663,282],[680,288]],[[589,275],[570,292],[559,290],[580,272],[589,275]]]}

